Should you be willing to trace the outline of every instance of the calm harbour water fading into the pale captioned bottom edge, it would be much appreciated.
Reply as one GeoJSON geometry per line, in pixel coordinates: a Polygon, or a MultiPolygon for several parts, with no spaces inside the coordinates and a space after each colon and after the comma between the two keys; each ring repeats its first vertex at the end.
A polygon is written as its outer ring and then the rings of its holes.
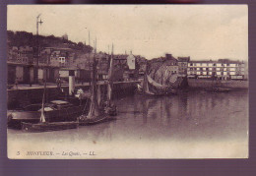
{"type": "Polygon", "coordinates": [[[245,158],[248,91],[115,99],[117,120],[78,129],[8,129],[10,158],[245,158]],[[50,154],[35,151],[49,151],[50,154]]]}

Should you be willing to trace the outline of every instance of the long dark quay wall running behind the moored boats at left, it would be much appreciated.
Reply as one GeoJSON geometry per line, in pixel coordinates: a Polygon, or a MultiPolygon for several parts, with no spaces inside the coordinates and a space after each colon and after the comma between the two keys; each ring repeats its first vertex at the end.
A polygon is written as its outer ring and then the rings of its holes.
{"type": "MultiPolygon", "coordinates": [[[[101,85],[101,84],[100,84],[101,85]]],[[[75,91],[79,88],[82,88],[84,91],[89,91],[90,86],[76,86],[75,91]]],[[[114,83],[113,85],[113,98],[125,96],[128,94],[133,94],[137,88],[137,82],[123,82],[123,83],[114,83]]],[[[69,88],[68,86],[62,87],[63,92],[60,88],[46,88],[45,99],[46,102],[59,98],[65,97],[68,95],[69,88]]],[[[106,94],[106,85],[101,85],[101,93],[106,94]]],[[[8,109],[24,107],[32,103],[40,103],[43,95],[43,88],[21,88],[21,89],[8,89],[7,90],[8,100],[7,107],[8,109]]]]}

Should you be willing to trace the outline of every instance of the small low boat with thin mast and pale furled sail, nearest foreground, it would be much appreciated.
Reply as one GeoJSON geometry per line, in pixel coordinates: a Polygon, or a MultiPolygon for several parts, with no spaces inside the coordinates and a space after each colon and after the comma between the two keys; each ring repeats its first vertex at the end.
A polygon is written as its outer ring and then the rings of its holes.
{"type": "MultiPolygon", "coordinates": [[[[48,132],[48,131],[59,131],[59,130],[67,130],[67,129],[75,129],[78,127],[78,122],[70,121],[70,122],[47,122],[45,118],[45,93],[46,93],[46,81],[44,82],[44,89],[42,95],[42,104],[41,104],[41,114],[39,123],[27,123],[22,122],[22,130],[26,132],[48,132]]],[[[50,108],[52,112],[53,109],[50,108]]]]}

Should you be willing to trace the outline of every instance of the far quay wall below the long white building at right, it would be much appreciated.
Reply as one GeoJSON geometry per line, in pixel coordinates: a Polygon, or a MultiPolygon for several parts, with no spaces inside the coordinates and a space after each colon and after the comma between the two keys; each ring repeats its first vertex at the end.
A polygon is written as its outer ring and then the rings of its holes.
{"type": "Polygon", "coordinates": [[[244,80],[200,80],[188,79],[189,88],[248,88],[248,81],[244,80]]]}

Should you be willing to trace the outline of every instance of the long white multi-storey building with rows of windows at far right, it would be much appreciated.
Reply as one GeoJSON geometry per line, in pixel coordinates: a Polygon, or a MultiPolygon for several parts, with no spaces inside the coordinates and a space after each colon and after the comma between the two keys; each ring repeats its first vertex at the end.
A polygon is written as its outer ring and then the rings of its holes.
{"type": "Polygon", "coordinates": [[[244,79],[244,63],[219,59],[218,61],[190,61],[188,63],[187,77],[198,79],[244,79]]]}

